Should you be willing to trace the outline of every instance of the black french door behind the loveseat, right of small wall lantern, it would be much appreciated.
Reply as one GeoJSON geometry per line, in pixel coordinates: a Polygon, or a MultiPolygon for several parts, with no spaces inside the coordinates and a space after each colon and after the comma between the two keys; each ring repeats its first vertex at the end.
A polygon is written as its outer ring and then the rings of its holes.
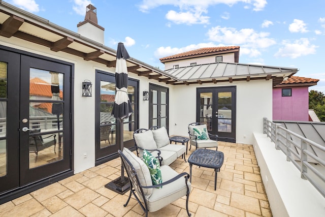
{"type": "Polygon", "coordinates": [[[149,128],[165,127],[168,131],[168,88],[149,84],[149,128]]]}

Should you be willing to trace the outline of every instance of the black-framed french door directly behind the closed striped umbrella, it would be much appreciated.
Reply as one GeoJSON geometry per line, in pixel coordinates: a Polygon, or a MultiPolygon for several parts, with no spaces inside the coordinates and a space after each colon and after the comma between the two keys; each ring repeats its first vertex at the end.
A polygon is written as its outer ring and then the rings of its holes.
{"type": "MultiPolygon", "coordinates": [[[[129,78],[127,95],[133,113],[123,120],[123,145],[134,146],[133,132],[138,129],[138,86],[139,81],[129,78]]],[[[95,156],[96,165],[117,157],[120,149],[120,121],[112,115],[115,99],[115,76],[96,71],[96,116],[95,116],[95,156]]]]}

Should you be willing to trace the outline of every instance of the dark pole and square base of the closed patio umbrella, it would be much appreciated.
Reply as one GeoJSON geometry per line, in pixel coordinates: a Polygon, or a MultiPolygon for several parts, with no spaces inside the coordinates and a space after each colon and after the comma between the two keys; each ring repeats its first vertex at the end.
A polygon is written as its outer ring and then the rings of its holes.
{"type": "MultiPolygon", "coordinates": [[[[120,119],[120,150],[123,151],[123,119],[120,119]]],[[[127,177],[124,177],[124,166],[121,159],[121,177],[105,184],[105,188],[110,189],[121,195],[125,194],[130,189],[130,182],[127,177]]]]}

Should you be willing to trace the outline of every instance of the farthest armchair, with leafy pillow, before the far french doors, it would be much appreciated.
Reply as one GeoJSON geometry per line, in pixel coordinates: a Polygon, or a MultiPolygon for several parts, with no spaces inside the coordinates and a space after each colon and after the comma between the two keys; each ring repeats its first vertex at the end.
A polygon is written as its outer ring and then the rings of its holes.
{"type": "Polygon", "coordinates": [[[208,133],[207,125],[200,122],[193,122],[188,125],[189,150],[191,145],[197,148],[213,148],[218,149],[218,135],[208,133]]]}

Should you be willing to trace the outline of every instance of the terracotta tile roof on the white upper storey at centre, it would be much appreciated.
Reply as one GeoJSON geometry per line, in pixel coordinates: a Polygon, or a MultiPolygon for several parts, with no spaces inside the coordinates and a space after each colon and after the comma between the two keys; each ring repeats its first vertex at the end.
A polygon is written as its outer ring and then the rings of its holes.
{"type": "Polygon", "coordinates": [[[180,58],[180,57],[187,57],[187,56],[193,56],[193,55],[200,55],[200,54],[207,54],[207,53],[215,53],[220,51],[228,51],[228,50],[234,50],[239,49],[239,46],[228,46],[228,47],[206,47],[206,48],[200,48],[196,50],[190,50],[184,53],[178,53],[171,56],[166,56],[163,58],[160,58],[161,60],[167,60],[167,59],[174,59],[174,58],[180,58]]]}

